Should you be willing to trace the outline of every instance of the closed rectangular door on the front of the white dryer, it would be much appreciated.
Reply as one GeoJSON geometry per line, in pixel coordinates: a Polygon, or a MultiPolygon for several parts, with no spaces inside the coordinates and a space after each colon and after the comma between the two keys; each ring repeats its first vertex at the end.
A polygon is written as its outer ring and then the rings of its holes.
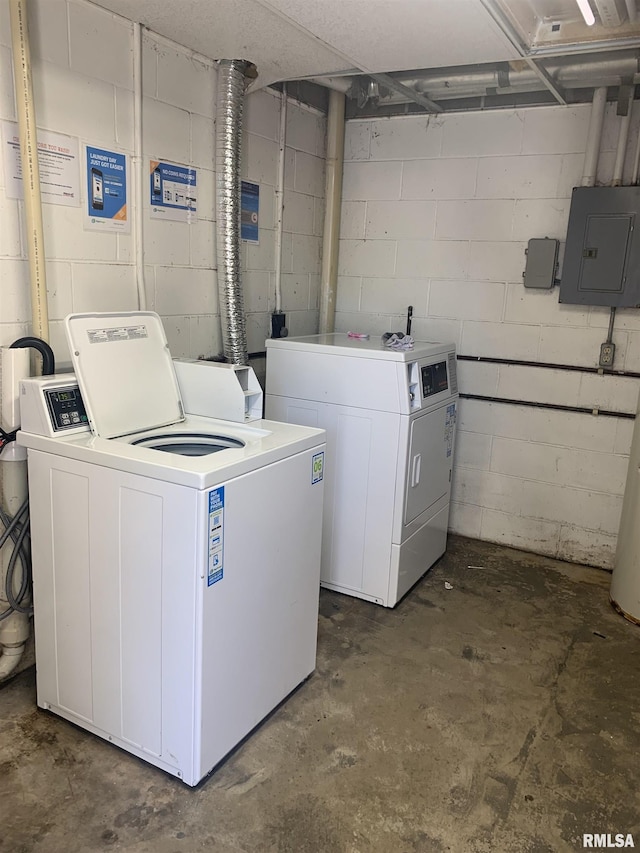
{"type": "Polygon", "coordinates": [[[404,523],[451,490],[455,404],[439,406],[411,422],[404,523]]]}

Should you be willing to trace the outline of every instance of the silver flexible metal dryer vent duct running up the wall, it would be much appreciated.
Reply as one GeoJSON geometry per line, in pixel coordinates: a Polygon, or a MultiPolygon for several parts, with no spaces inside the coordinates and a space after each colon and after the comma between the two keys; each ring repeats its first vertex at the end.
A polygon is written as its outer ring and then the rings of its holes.
{"type": "MultiPolygon", "coordinates": [[[[247,364],[247,328],[240,280],[240,153],[242,108],[247,73],[244,59],[218,65],[216,118],[217,257],[222,346],[225,361],[247,364]]],[[[255,75],[254,75],[255,76],[255,75]]]]}

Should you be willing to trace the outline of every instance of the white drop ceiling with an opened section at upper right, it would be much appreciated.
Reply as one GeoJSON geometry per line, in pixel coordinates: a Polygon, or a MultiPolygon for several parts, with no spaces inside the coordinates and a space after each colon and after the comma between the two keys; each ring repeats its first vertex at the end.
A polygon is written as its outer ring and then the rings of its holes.
{"type": "Polygon", "coordinates": [[[253,88],[523,58],[543,80],[548,56],[640,49],[640,20],[630,20],[636,0],[590,0],[593,27],[575,0],[95,2],[212,59],[250,60],[258,69],[253,88]]]}

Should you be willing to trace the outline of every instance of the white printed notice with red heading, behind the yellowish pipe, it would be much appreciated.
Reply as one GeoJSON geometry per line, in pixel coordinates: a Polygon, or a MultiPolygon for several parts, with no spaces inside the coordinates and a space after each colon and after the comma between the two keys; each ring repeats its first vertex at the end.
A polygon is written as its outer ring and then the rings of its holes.
{"type": "MultiPolygon", "coordinates": [[[[18,125],[2,122],[2,159],[7,198],[24,198],[18,125]]],[[[42,201],[77,207],[80,204],[78,140],[62,133],[38,131],[38,166],[42,201]]]]}

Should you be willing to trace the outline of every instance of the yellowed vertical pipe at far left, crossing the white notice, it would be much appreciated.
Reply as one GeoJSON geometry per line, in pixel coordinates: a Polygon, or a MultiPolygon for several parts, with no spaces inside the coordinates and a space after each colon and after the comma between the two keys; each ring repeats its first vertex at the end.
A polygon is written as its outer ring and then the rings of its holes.
{"type": "Polygon", "coordinates": [[[43,341],[48,341],[49,311],[47,307],[42,199],[40,197],[40,167],[38,163],[36,117],[33,107],[33,81],[31,78],[26,0],[9,0],[9,11],[11,13],[16,112],[20,129],[25,230],[31,287],[32,333],[43,341]]]}

